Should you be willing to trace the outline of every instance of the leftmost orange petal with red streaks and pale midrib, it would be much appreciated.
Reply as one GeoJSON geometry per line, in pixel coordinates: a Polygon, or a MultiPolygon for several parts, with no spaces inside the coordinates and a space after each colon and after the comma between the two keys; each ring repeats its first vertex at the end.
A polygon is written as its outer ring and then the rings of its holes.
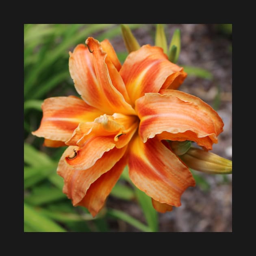
{"type": "Polygon", "coordinates": [[[93,121],[102,114],[73,96],[48,98],[42,109],[40,127],[32,134],[53,141],[67,141],[80,122],[93,121]]]}

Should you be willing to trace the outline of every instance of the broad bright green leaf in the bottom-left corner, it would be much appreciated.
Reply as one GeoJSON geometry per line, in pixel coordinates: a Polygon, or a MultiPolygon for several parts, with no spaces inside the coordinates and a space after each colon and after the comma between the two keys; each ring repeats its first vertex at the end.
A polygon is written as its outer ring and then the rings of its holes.
{"type": "Polygon", "coordinates": [[[41,215],[28,204],[24,204],[24,225],[28,232],[31,230],[35,230],[35,232],[66,232],[64,228],[41,215]]]}

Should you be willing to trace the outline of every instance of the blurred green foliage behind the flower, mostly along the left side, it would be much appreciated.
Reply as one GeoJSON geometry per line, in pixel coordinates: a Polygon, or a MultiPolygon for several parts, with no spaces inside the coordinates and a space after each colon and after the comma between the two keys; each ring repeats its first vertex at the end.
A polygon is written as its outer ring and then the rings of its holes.
{"type": "MultiPolygon", "coordinates": [[[[143,26],[146,25],[129,25],[131,30],[143,26]]],[[[130,182],[127,168],[111,196],[137,201],[144,223],[120,210],[106,208],[93,218],[87,209],[73,207],[62,193],[63,179],[56,174],[56,167],[65,147],[42,147],[43,138],[31,134],[39,127],[44,99],[78,95],[69,75],[69,51],[78,43],[85,43],[89,36],[99,41],[111,40],[121,36],[121,28],[117,24],[24,24],[24,232],[107,232],[109,219],[121,219],[138,231],[156,232],[158,215],[151,199],[130,182]]],[[[124,62],[128,54],[117,52],[117,55],[124,62]]],[[[185,70],[212,78],[203,69],[186,67],[185,70]]],[[[204,181],[201,183],[206,186],[204,181]]]]}

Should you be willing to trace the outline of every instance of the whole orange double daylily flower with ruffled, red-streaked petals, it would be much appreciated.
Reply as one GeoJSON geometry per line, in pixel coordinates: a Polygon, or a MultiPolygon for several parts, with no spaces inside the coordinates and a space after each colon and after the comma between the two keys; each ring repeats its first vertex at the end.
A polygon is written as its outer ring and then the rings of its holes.
{"type": "Polygon", "coordinates": [[[165,139],[190,140],[211,150],[223,131],[216,111],[177,91],[187,74],[163,49],[145,45],[121,66],[111,43],[92,37],[70,54],[69,71],[81,98],[52,97],[33,135],[44,145],[68,145],[57,173],[74,206],[95,216],[128,165],[136,187],[161,213],[180,206],[195,180],[165,139]]]}

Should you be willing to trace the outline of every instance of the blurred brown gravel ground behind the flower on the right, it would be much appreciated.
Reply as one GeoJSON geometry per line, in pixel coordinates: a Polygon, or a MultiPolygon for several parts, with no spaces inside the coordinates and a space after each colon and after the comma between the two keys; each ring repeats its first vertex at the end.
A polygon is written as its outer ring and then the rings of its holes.
{"type": "MultiPolygon", "coordinates": [[[[212,152],[232,160],[232,36],[220,33],[209,24],[167,24],[168,42],[176,28],[180,28],[182,38],[177,64],[207,69],[214,77],[206,80],[188,76],[179,89],[201,98],[210,106],[218,106],[224,131],[212,152]],[[216,103],[218,88],[221,101],[216,103]]],[[[141,45],[154,45],[154,30],[152,25],[133,30],[133,33],[141,45]]],[[[126,51],[121,37],[111,43],[116,51],[126,51]]],[[[199,186],[187,189],[181,197],[182,206],[159,214],[160,232],[232,232],[232,175],[200,175],[210,184],[209,189],[199,186]]],[[[124,202],[110,196],[107,205],[144,221],[136,202],[124,202]]],[[[110,224],[113,231],[138,231],[123,221],[110,224]]]]}

